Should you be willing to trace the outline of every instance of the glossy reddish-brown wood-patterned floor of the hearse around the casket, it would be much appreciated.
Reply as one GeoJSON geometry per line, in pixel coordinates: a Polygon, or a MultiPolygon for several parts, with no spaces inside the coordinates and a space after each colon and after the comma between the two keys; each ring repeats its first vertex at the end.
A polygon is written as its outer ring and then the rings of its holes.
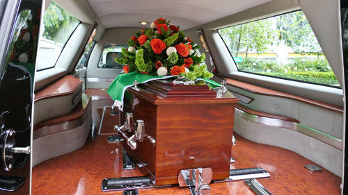
{"type": "MultiPolygon", "coordinates": [[[[88,139],[79,150],[46,160],[33,167],[32,194],[122,194],[101,190],[104,178],[143,176],[139,169],[122,170],[121,144],[108,144],[108,135],[88,139]]],[[[276,146],[257,144],[235,133],[237,145],[232,146],[236,162],[231,169],[263,167],[270,178],[258,181],[272,194],[340,194],[341,180],[325,170],[309,173],[303,167],[310,160],[276,146]]],[[[211,194],[253,194],[242,180],[213,183],[211,194]]],[[[177,185],[158,189],[140,189],[139,194],[187,194],[177,185]]]]}

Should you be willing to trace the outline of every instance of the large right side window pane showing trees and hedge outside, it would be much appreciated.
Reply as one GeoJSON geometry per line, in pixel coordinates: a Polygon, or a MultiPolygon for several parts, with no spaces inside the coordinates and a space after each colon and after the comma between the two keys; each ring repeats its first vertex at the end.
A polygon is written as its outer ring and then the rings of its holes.
{"type": "Polygon", "coordinates": [[[239,71],[340,86],[301,10],[221,28],[219,34],[239,71]]]}

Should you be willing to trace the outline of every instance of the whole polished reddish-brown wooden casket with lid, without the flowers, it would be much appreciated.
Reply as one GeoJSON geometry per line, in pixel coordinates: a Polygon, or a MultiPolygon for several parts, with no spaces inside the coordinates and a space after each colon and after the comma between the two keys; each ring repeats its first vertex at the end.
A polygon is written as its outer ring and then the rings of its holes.
{"type": "MultiPolygon", "coordinates": [[[[211,167],[212,179],[228,178],[232,147],[235,103],[238,99],[216,98],[207,85],[174,85],[171,81],[152,80],[129,87],[125,94],[120,124],[126,112],[143,120],[143,140],[136,149],[122,142],[155,185],[177,183],[182,169],[211,167]]],[[[127,137],[136,134],[136,124],[127,137]]]]}

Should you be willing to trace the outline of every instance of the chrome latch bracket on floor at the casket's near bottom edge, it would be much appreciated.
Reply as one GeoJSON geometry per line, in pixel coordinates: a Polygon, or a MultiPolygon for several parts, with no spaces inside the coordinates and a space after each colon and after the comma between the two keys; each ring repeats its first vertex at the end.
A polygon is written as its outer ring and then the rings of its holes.
{"type": "Polygon", "coordinates": [[[180,187],[189,187],[192,195],[208,195],[210,194],[209,183],[212,181],[212,169],[197,168],[183,169],[178,176],[180,187]]]}

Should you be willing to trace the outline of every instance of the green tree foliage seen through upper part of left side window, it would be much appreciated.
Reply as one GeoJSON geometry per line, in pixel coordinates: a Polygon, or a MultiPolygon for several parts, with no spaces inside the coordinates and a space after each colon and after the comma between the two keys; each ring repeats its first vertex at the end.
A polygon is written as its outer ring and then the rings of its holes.
{"type": "Polygon", "coordinates": [[[78,24],[78,19],[52,1],[45,12],[43,37],[65,44],[78,24]]]}

